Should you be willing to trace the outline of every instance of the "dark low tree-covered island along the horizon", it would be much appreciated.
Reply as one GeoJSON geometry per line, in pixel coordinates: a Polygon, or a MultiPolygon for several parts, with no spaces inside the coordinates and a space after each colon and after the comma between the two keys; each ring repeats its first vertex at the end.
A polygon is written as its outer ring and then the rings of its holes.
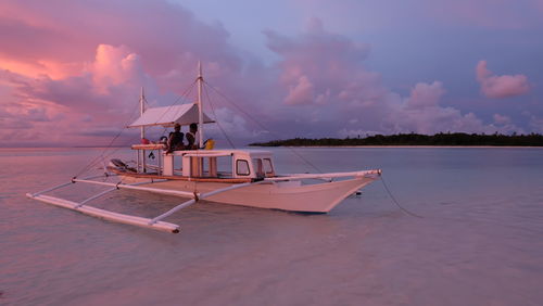
{"type": "Polygon", "coordinates": [[[364,138],[294,138],[255,142],[253,146],[355,146],[355,145],[490,145],[490,146],[543,146],[543,135],[479,135],[464,132],[440,132],[435,135],[397,133],[374,135],[364,138]]]}

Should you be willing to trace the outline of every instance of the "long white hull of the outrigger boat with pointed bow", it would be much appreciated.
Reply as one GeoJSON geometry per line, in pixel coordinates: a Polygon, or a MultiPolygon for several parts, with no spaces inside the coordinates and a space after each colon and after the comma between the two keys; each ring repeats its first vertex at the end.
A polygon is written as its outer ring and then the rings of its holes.
{"type": "MultiPolygon", "coordinates": [[[[376,179],[377,177],[365,176],[315,184],[301,184],[300,181],[270,181],[211,195],[206,200],[223,204],[258,208],[328,213],[346,196],[376,179]]],[[[125,182],[137,182],[140,180],[143,179],[129,176],[123,177],[123,181],[125,182]]],[[[144,187],[146,184],[140,186],[144,187]]],[[[213,190],[233,186],[233,183],[168,180],[153,182],[149,186],[161,190],[207,193],[213,190]]]]}

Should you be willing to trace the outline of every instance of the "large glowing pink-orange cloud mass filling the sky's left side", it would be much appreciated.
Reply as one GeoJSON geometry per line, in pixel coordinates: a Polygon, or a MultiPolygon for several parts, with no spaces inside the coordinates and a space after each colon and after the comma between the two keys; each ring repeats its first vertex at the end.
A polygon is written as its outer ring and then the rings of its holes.
{"type": "Polygon", "coordinates": [[[220,25],[167,1],[1,1],[0,35],[0,133],[12,143],[106,143],[141,86],[152,104],[169,104],[198,60],[209,77],[241,69],[220,25]],[[161,17],[141,22],[150,15],[161,17]]]}

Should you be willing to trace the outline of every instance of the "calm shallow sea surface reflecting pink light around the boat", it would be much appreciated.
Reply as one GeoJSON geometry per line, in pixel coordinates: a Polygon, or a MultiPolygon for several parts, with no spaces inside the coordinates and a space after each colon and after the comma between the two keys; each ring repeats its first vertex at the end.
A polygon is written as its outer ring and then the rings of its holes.
{"type": "MultiPolygon", "coordinates": [[[[273,151],[280,173],[312,170],[273,151]]],[[[381,181],[327,215],[204,202],[166,219],[179,234],[25,197],[100,152],[0,150],[0,305],[543,305],[542,149],[296,149],[323,171],[381,168],[424,218],[381,181]]],[[[93,205],[151,217],[181,201],[93,205]]]]}

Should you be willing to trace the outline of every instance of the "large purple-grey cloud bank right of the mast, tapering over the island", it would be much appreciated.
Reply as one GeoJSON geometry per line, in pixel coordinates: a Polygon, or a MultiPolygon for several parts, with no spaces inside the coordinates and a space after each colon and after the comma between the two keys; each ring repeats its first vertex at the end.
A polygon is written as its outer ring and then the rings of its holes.
{"type": "Polygon", "coordinates": [[[379,74],[364,66],[369,47],[328,33],[318,21],[293,38],[273,31],[266,35],[272,50],[280,56],[277,69],[282,102],[291,107],[290,114],[281,117],[296,120],[299,112],[292,107],[303,105],[307,122],[336,132],[330,136],[342,137],[500,130],[473,113],[440,105],[446,92],[441,81],[418,82],[406,98],[390,91],[379,74]]]}

